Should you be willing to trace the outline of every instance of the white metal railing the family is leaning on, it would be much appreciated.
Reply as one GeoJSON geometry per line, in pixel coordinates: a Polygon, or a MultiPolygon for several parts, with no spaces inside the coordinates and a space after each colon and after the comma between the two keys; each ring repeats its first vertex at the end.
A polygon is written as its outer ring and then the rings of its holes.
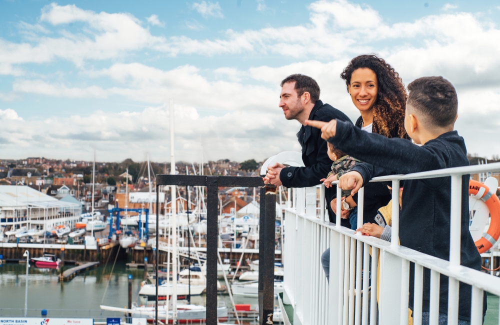
{"type": "MultiPolygon", "coordinates": [[[[461,176],[500,171],[500,163],[474,165],[390,175],[371,181],[451,176],[449,261],[400,246],[399,193],[392,191],[391,242],[354,234],[340,226],[340,200],[336,206],[336,224],[328,222],[321,205],[316,213],[316,188],[293,188],[292,202],[285,210],[284,303],[293,306],[295,324],[406,324],[408,321],[409,262],[415,263],[413,324],[422,323],[423,268],[429,268],[430,324],[437,324],[439,314],[440,274],[448,282],[448,324],[458,322],[459,282],[472,286],[471,324],[482,324],[483,292],[500,296],[500,277],[460,265],[461,176]],[[328,284],[320,257],[330,249],[328,284]],[[371,254],[371,265],[370,265],[371,254]],[[380,260],[380,274],[378,271],[380,260]],[[371,274],[370,274],[371,273],[371,274]],[[362,281],[362,278],[369,281],[362,281]],[[377,287],[379,278],[379,287],[377,287]],[[379,291],[377,301],[377,291],[379,291]],[[357,298],[358,297],[358,298],[357,298]]],[[[324,188],[320,191],[324,197],[324,188]]],[[[337,187],[337,197],[341,189],[337,187]]],[[[321,201],[320,199],[320,201],[321,201]]],[[[404,208],[404,207],[403,207],[404,208]]],[[[363,221],[363,188],[358,194],[358,227],[363,221]]],[[[500,323],[500,322],[499,322],[500,323]]]]}

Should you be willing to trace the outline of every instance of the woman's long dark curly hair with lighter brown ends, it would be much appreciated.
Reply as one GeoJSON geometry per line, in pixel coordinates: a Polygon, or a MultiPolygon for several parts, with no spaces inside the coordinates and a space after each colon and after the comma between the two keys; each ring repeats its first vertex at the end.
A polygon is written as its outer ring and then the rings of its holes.
{"type": "Polygon", "coordinates": [[[354,57],[340,73],[340,77],[347,84],[347,89],[352,72],[359,68],[372,70],[377,78],[378,91],[373,105],[372,132],[391,137],[391,132],[394,134],[397,130],[398,137],[407,137],[404,129],[407,94],[399,74],[381,57],[374,54],[359,55],[354,57]]]}

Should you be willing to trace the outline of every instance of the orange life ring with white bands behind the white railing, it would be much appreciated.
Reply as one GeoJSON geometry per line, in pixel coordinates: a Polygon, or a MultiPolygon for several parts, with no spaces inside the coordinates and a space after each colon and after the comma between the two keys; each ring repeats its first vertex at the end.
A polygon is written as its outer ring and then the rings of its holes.
{"type": "Polygon", "coordinates": [[[483,253],[493,246],[500,237],[500,200],[488,186],[477,180],[469,180],[469,194],[475,195],[475,198],[482,199],[489,210],[491,220],[488,231],[475,242],[477,251],[483,253]]]}

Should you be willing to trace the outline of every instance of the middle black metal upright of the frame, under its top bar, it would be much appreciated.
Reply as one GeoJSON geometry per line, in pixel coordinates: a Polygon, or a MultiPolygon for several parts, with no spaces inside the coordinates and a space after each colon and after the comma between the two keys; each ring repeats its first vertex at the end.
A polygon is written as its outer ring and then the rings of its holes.
{"type": "Polygon", "coordinates": [[[206,176],[206,324],[217,324],[217,176],[206,176]]]}

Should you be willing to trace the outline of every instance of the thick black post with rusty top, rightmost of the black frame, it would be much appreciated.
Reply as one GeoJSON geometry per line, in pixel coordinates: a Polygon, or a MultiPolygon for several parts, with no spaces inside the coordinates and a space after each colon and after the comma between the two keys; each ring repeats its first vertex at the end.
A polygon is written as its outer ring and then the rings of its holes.
{"type": "Polygon", "coordinates": [[[272,324],[274,312],[274,244],[276,232],[276,187],[265,187],[264,256],[259,256],[259,267],[263,268],[264,290],[262,298],[261,324],[272,324]],[[262,263],[263,262],[263,263],[262,263]],[[263,265],[262,265],[263,264],[263,265]]]}

